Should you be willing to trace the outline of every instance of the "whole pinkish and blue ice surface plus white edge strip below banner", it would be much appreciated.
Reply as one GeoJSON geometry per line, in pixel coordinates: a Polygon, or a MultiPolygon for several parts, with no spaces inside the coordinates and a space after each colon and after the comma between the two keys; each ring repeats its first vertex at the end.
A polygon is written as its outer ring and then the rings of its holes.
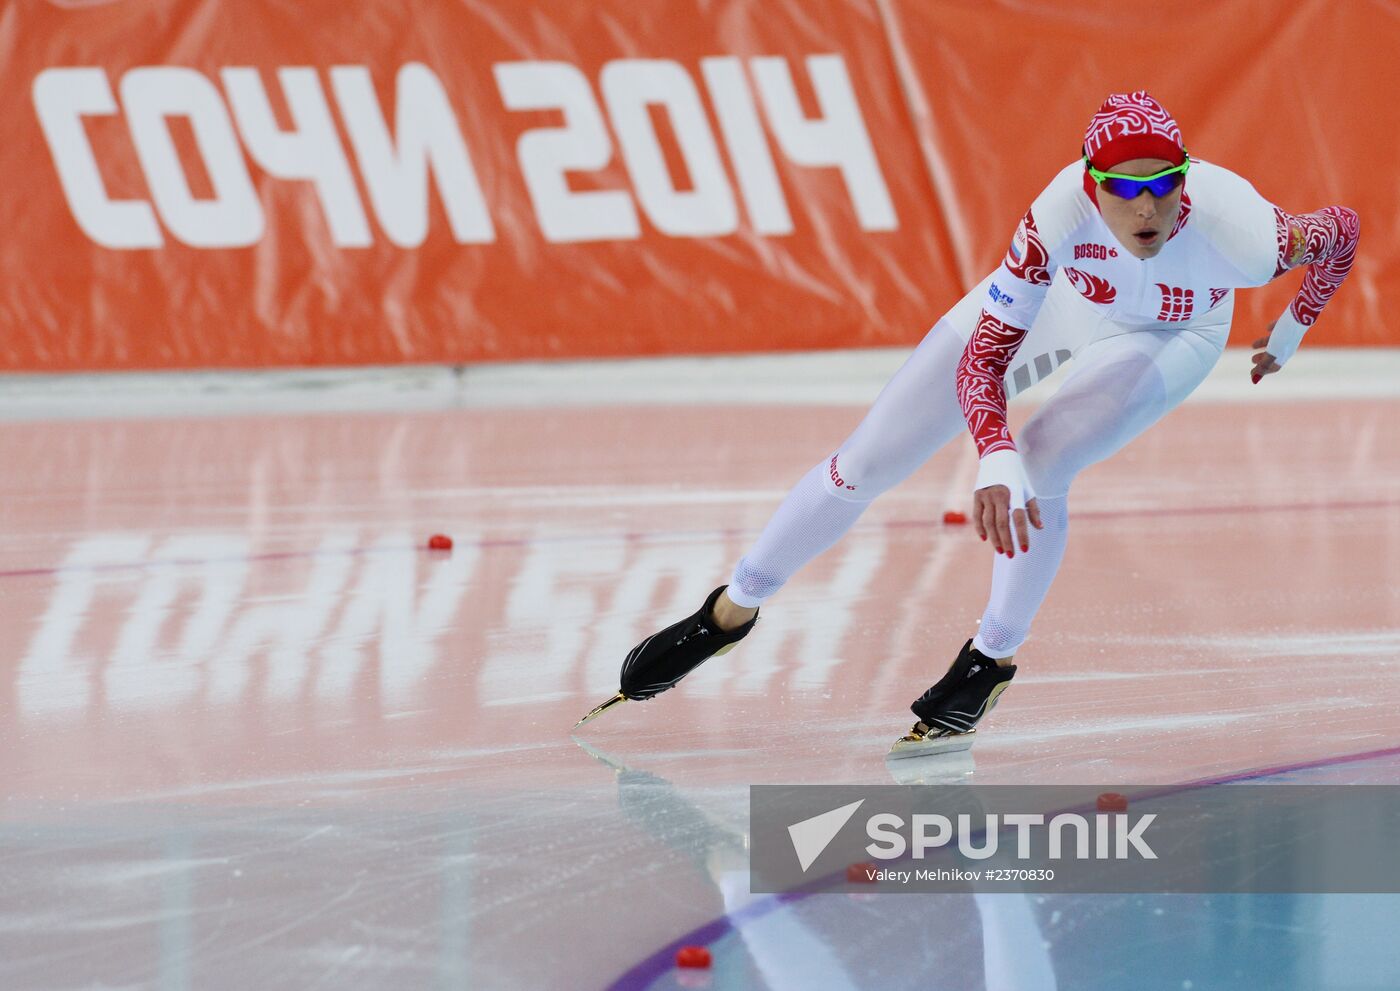
{"type": "MultiPolygon", "coordinates": [[[[1226,354],[1091,469],[1015,686],[930,773],[1396,782],[1392,759],[1329,763],[1400,747],[1386,360],[1254,388],[1226,354]]],[[[882,361],[21,389],[0,987],[661,988],[676,941],[711,946],[713,988],[1393,987],[1393,899],[749,894],[748,785],[890,784],[907,704],[970,635],[991,556],[941,523],[970,444],[738,649],[575,745],[882,361]]]]}

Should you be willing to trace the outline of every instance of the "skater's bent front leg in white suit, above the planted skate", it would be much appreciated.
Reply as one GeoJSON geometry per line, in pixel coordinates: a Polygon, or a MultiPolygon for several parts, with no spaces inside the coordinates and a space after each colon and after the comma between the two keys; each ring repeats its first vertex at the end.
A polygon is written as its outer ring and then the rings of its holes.
{"type": "Polygon", "coordinates": [[[1064,556],[1074,477],[1190,395],[1215,365],[1226,333],[1228,323],[1200,332],[1124,333],[1075,357],[1075,371],[1021,431],[1018,447],[1044,529],[1033,532],[1029,553],[997,556],[974,648],[1000,659],[1016,652],[1064,556]]]}

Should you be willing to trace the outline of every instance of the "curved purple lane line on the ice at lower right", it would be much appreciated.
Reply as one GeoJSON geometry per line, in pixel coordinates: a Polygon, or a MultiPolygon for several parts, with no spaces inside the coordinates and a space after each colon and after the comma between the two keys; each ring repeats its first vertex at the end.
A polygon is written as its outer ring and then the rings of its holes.
{"type": "MultiPolygon", "coordinates": [[[[1189,781],[1180,785],[1165,785],[1162,788],[1151,788],[1148,791],[1134,792],[1128,795],[1128,802],[1144,802],[1156,798],[1169,798],[1172,795],[1183,795],[1190,791],[1200,791],[1204,788],[1214,788],[1222,784],[1240,784],[1243,781],[1260,781],[1280,774],[1292,774],[1294,771],[1306,771],[1315,767],[1337,767],[1341,764],[1357,764],[1364,760],[1378,760],[1380,757],[1394,757],[1400,756],[1400,746],[1382,747],[1380,750],[1364,750],[1361,753],[1344,753],[1336,757],[1320,757],[1317,760],[1302,760],[1292,764],[1275,764],[1273,767],[1260,767],[1252,771],[1235,771],[1231,774],[1219,774],[1215,777],[1198,778],[1196,781],[1189,781]]],[[[727,913],[714,921],[706,922],[697,929],[673,939],[661,949],[658,949],[651,956],[640,960],[636,966],[627,970],[624,974],[617,977],[612,984],[606,987],[606,991],[647,991],[652,984],[655,984],[662,976],[675,967],[676,950],[682,946],[711,946],[721,936],[729,932],[738,932],[739,927],[756,918],[762,918],[769,913],[781,908],[792,901],[801,901],[812,894],[820,894],[823,890],[832,887],[832,885],[841,880],[841,872],[829,873],[823,878],[813,878],[801,887],[794,887],[791,892],[778,892],[776,894],[769,894],[759,899],[736,913],[727,913]]]]}

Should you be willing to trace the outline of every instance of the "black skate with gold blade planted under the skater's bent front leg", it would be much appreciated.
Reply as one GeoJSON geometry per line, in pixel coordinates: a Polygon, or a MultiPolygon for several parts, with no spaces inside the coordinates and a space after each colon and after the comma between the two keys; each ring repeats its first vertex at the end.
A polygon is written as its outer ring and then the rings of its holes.
{"type": "Polygon", "coordinates": [[[890,757],[923,757],[972,747],[974,726],[1011,684],[1016,665],[1000,668],[969,640],[938,684],[910,708],[918,722],[889,749],[890,757]]]}

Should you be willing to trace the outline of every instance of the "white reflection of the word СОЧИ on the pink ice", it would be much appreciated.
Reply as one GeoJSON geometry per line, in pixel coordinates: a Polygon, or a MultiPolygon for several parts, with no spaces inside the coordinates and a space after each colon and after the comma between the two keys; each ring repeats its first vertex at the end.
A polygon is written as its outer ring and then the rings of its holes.
{"type": "Polygon", "coordinates": [[[235,535],[80,540],[55,568],[20,662],[21,711],[237,704],[251,690],[339,703],[367,666],[382,703],[403,705],[437,662],[480,558],[468,540],[433,558],[414,543],[402,532],[370,544],[333,532],[255,575],[251,543],[235,535]],[[251,689],[255,665],[263,676],[251,689]]]}

